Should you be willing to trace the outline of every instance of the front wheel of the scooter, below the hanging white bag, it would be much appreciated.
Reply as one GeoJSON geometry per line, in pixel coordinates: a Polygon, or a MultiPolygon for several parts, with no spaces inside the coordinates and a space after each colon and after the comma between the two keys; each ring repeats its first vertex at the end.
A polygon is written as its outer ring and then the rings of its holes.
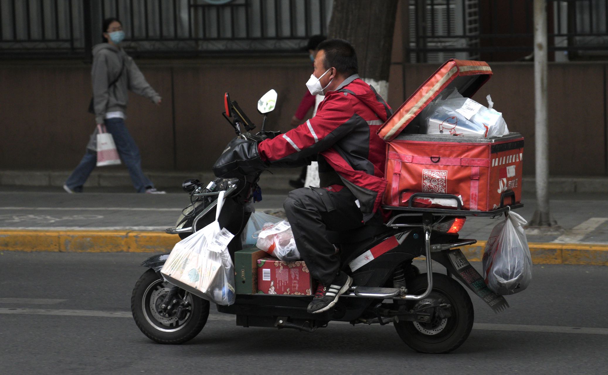
{"type": "Polygon", "coordinates": [[[131,312],[137,327],[148,338],[161,344],[181,344],[193,339],[209,317],[209,301],[192,294],[185,296],[183,289],[179,289],[171,299],[178,300],[175,304],[179,304],[185,298],[190,311],[182,316],[164,311],[161,304],[172,287],[153,269],[148,269],[137,280],[131,294],[131,312]]]}

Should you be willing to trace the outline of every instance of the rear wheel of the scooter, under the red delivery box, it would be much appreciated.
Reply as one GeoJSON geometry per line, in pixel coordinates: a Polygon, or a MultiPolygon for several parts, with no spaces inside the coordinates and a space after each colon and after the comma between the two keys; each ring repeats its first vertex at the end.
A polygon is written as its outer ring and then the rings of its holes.
{"type": "MultiPolygon", "coordinates": [[[[420,295],[426,291],[426,274],[420,274],[407,285],[409,293],[420,295]]],[[[433,274],[433,289],[422,301],[407,301],[407,309],[441,300],[451,305],[450,317],[437,315],[429,323],[401,321],[395,329],[407,346],[421,353],[450,353],[469,337],[473,328],[474,311],[469,294],[458,281],[443,274],[433,274]]],[[[428,310],[430,311],[430,309],[428,310]]]]}

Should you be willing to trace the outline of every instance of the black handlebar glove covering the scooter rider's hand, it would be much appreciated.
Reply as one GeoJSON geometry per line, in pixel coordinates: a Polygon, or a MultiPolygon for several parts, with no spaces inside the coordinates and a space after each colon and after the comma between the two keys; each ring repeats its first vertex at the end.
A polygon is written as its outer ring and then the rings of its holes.
{"type": "Polygon", "coordinates": [[[268,163],[264,162],[258,154],[258,140],[255,137],[246,135],[236,137],[226,146],[226,150],[219,156],[213,164],[213,173],[216,177],[232,178],[252,176],[258,171],[268,168],[268,163]]]}

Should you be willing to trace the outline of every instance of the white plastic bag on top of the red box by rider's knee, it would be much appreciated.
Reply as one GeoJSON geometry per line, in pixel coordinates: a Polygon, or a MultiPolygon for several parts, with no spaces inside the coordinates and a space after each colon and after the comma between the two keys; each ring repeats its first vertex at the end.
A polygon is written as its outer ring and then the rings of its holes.
{"type": "Polygon", "coordinates": [[[263,230],[258,235],[256,246],[287,263],[301,259],[300,253],[295,247],[291,225],[285,220],[277,222],[277,224],[270,222],[264,224],[263,230]]]}

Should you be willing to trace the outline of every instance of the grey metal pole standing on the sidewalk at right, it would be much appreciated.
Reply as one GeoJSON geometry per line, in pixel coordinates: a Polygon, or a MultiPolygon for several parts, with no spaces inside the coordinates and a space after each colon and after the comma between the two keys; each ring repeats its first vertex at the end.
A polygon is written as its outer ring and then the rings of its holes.
{"type": "Polygon", "coordinates": [[[537,207],[530,225],[550,227],[547,126],[547,0],[534,0],[534,105],[537,207]]]}

